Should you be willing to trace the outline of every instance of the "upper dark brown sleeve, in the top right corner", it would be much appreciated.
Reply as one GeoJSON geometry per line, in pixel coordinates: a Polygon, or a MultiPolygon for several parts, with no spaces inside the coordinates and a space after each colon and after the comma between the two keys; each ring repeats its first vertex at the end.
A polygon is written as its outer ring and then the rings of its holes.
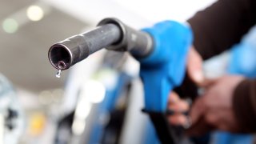
{"type": "Polygon", "coordinates": [[[188,20],[195,49],[203,59],[229,49],[254,26],[255,3],[256,0],[219,0],[188,20]]]}

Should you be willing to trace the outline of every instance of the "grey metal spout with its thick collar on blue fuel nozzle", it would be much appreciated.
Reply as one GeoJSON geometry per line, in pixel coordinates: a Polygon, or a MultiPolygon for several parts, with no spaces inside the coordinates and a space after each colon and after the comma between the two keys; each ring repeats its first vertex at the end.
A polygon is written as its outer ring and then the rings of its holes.
{"type": "Polygon", "coordinates": [[[130,51],[134,57],[141,58],[150,54],[152,45],[149,34],[134,30],[116,18],[106,18],[94,30],[74,35],[51,46],[48,58],[54,68],[66,70],[102,48],[130,51]]]}

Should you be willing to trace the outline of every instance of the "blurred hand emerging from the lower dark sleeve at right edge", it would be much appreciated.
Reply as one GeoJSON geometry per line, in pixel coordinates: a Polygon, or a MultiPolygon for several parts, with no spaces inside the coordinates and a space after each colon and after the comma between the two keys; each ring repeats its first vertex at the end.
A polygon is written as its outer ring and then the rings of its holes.
{"type": "Polygon", "coordinates": [[[190,111],[192,126],[187,134],[196,136],[210,130],[237,132],[240,128],[234,118],[232,98],[234,89],[244,78],[226,75],[208,86],[205,94],[199,97],[190,111]]]}

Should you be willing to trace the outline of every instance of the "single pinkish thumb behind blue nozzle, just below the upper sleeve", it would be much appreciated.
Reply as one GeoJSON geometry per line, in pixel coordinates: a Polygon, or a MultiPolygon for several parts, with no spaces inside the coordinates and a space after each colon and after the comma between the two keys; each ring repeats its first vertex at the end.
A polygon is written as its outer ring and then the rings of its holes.
{"type": "Polygon", "coordinates": [[[198,54],[194,47],[190,48],[188,54],[187,72],[192,81],[198,85],[201,85],[204,81],[204,75],[202,73],[202,57],[198,54]]]}

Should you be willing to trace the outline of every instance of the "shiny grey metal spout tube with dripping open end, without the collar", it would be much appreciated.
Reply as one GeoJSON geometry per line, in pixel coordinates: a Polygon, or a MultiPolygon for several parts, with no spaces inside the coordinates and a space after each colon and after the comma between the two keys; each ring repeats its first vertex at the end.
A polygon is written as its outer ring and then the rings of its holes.
{"type": "Polygon", "coordinates": [[[122,32],[114,24],[98,26],[89,32],[74,35],[50,47],[48,58],[58,70],[66,70],[90,54],[118,42],[122,32]]]}

